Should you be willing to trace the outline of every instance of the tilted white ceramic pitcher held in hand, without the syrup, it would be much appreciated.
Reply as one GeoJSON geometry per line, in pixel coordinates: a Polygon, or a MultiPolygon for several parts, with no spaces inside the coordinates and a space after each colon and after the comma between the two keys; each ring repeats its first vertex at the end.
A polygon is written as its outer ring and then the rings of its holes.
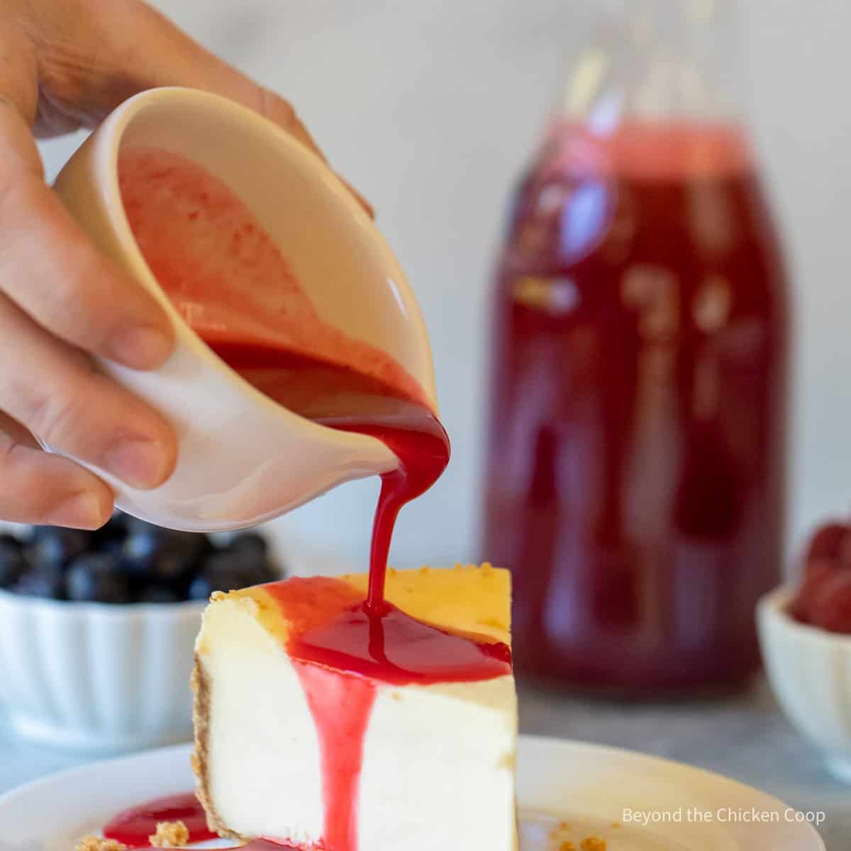
{"type": "Polygon", "coordinates": [[[115,490],[117,505],[172,528],[243,528],[340,483],[391,470],[397,459],[379,440],[318,426],[272,402],[183,321],[130,231],[117,175],[124,145],[181,153],[223,180],[277,242],[321,317],[388,352],[419,380],[437,412],[431,350],[414,294],[340,180],[243,106],[193,89],[151,89],[119,106],[54,185],[99,248],[162,302],[176,332],[174,355],[155,371],[98,363],[157,408],[179,439],[174,473],[153,490],[129,488],[94,469],[115,490]]]}

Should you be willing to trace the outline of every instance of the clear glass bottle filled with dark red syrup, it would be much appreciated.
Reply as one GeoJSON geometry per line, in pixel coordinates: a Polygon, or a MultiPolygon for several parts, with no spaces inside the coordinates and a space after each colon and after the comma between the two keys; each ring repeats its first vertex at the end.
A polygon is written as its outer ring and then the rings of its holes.
{"type": "Polygon", "coordinates": [[[780,581],[787,284],[732,0],[610,4],[514,199],[483,556],[515,660],[631,696],[745,683],[780,581]]]}

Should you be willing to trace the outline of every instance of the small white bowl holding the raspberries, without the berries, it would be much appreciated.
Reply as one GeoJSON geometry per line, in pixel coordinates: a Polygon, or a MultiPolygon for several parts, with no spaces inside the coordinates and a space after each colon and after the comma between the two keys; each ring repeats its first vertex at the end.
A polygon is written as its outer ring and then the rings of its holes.
{"type": "Polygon", "coordinates": [[[789,614],[796,589],[762,597],[757,624],[768,681],[792,725],[851,783],[851,636],[802,624],[789,614]]]}

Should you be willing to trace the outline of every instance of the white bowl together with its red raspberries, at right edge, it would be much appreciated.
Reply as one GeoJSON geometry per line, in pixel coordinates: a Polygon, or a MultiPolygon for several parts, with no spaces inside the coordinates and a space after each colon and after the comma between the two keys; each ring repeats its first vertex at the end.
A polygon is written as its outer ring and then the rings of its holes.
{"type": "Polygon", "coordinates": [[[851,783],[851,523],[817,528],[802,578],[757,607],[768,680],[793,726],[851,783]]]}

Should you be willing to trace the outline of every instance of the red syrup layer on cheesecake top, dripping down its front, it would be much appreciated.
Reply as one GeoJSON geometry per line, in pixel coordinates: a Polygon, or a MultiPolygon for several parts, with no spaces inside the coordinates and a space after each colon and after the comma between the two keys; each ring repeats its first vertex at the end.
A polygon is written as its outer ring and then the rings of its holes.
{"type": "Polygon", "coordinates": [[[310,707],[322,760],[321,847],[356,851],[363,746],[378,688],[505,677],[511,674],[511,648],[424,623],[386,601],[370,606],[340,580],[297,578],[248,593],[274,602],[261,606],[273,632],[277,615],[287,625],[286,651],[310,707]]]}

